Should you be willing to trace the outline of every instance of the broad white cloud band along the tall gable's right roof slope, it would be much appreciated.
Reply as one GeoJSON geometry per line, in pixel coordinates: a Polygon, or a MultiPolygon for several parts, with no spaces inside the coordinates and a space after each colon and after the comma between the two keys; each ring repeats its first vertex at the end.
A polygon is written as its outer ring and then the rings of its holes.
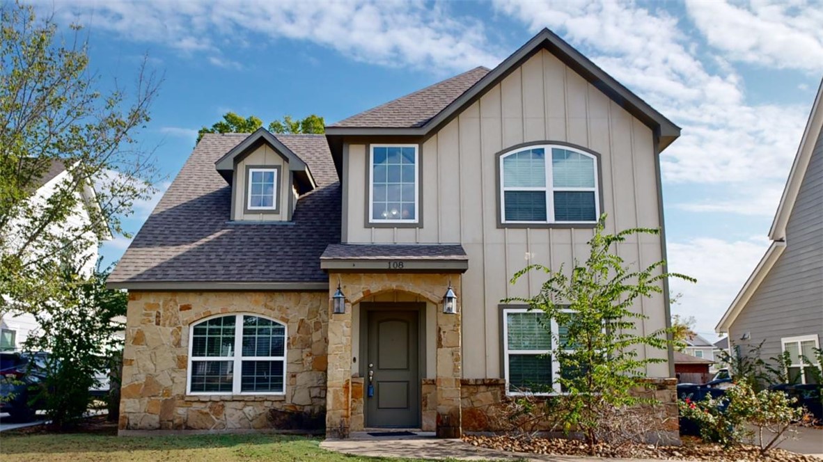
{"type": "Polygon", "coordinates": [[[496,0],[495,8],[533,32],[560,33],[681,125],[661,159],[667,181],[756,183],[788,174],[807,107],[747,104],[742,76],[722,58],[709,58],[719,69],[710,72],[676,18],[627,2],[496,0]]]}

